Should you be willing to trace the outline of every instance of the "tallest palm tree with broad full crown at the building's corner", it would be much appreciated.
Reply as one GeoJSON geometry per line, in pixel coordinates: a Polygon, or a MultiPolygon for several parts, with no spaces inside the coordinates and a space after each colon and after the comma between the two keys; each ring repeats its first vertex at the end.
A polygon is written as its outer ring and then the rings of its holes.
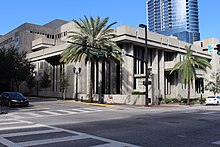
{"type": "MultiPolygon", "coordinates": [[[[91,73],[94,68],[94,63],[100,58],[108,59],[109,54],[106,50],[102,49],[114,49],[120,51],[116,42],[111,39],[116,37],[114,30],[111,27],[116,22],[107,25],[109,18],[100,19],[98,16],[96,19],[85,16],[80,21],[73,20],[77,30],[70,31],[68,38],[72,43],[64,49],[61,54],[60,62],[80,62],[85,57],[85,61],[91,63],[91,73]]],[[[121,56],[118,54],[112,54],[111,57],[116,60],[121,60],[121,56]]],[[[92,74],[89,79],[89,100],[92,101],[93,81],[92,74]]]]}

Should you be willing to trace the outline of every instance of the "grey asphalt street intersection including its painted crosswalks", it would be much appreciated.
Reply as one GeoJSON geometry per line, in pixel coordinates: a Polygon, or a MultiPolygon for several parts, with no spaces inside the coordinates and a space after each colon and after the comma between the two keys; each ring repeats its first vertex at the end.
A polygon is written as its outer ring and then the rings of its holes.
{"type": "Polygon", "coordinates": [[[2,107],[0,147],[220,146],[220,106],[96,105],[72,100],[2,107]]]}

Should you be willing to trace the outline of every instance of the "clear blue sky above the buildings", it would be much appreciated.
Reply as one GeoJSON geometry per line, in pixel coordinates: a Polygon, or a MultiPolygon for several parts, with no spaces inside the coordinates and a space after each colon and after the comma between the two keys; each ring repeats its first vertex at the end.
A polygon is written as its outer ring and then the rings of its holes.
{"type": "MultiPolygon", "coordinates": [[[[54,19],[71,21],[86,16],[110,17],[115,27],[138,27],[146,22],[146,0],[7,0],[1,2],[0,34],[29,22],[43,25],[54,19]]],[[[220,38],[220,0],[199,0],[201,39],[220,38]]]]}

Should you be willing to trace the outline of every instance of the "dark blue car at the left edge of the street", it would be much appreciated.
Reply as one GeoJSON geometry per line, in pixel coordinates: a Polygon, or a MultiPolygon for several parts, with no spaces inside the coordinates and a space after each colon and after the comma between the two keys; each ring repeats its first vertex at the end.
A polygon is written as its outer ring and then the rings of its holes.
{"type": "Polygon", "coordinates": [[[12,106],[28,106],[29,101],[19,92],[3,92],[0,95],[1,104],[12,106]]]}

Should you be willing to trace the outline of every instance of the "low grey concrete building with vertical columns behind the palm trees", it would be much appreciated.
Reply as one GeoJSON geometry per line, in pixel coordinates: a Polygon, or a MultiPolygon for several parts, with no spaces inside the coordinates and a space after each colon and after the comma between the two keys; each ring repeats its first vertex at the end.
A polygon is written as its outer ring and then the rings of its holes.
{"type": "MultiPolygon", "coordinates": [[[[60,54],[69,45],[67,43],[68,31],[74,29],[73,22],[62,20],[54,20],[43,26],[25,23],[0,37],[0,47],[14,44],[18,49],[27,51],[28,58],[36,65],[36,74],[42,76],[46,71],[50,75],[52,86],[46,89],[39,87],[39,96],[62,97],[59,83],[60,75],[64,72],[69,83],[65,97],[74,98],[77,92],[78,98],[86,99],[89,92],[90,64],[82,61],[64,65],[59,62],[60,54]],[[73,67],[76,70],[80,67],[81,72],[74,74],[73,67]]],[[[145,59],[143,56],[145,50],[143,29],[124,25],[115,28],[115,33],[117,37],[114,38],[114,41],[127,54],[145,59]]],[[[187,85],[181,82],[177,73],[170,75],[173,66],[178,61],[184,60],[186,45],[190,44],[174,37],[148,32],[148,67],[150,70],[148,89],[151,103],[156,104],[158,97],[184,98],[187,96],[187,85]]],[[[202,51],[203,48],[205,48],[205,44],[201,47],[201,42],[192,45],[193,55],[204,57],[212,62],[212,55],[202,51]]],[[[94,97],[98,99],[100,95],[104,95],[105,101],[107,101],[108,95],[111,94],[116,103],[143,105],[144,95],[134,95],[133,93],[145,92],[143,85],[145,63],[128,56],[124,56],[123,60],[122,64],[96,63],[92,73],[94,97]]],[[[212,63],[216,64],[216,61],[212,63]]],[[[198,78],[192,82],[191,86],[192,97],[200,97],[201,84],[204,86],[205,76],[204,72],[197,71],[198,78]]],[[[28,93],[24,86],[21,89],[24,93],[28,93]]],[[[36,88],[33,91],[32,94],[36,95],[36,88]]]]}

